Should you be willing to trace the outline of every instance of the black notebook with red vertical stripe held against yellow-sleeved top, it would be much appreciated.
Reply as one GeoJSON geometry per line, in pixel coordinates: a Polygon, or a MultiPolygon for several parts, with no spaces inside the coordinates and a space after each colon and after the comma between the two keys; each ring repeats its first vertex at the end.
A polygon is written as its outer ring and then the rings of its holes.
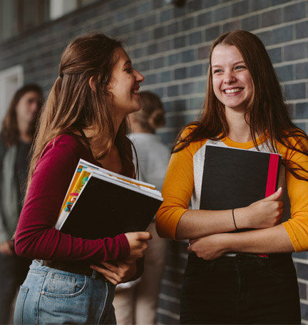
{"type": "Polygon", "coordinates": [[[280,165],[277,153],[207,145],[200,209],[246,207],[272,195],[277,190],[280,165]]]}

